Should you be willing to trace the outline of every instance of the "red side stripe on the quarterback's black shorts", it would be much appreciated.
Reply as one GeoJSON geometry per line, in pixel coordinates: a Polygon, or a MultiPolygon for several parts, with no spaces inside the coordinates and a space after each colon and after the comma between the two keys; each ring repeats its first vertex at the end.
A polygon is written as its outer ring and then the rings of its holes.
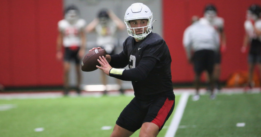
{"type": "Polygon", "coordinates": [[[167,98],[164,105],[159,110],[157,116],[151,121],[151,123],[156,124],[159,127],[159,129],[161,129],[161,126],[163,125],[166,117],[168,116],[173,103],[174,103],[174,100],[169,100],[167,98]]]}

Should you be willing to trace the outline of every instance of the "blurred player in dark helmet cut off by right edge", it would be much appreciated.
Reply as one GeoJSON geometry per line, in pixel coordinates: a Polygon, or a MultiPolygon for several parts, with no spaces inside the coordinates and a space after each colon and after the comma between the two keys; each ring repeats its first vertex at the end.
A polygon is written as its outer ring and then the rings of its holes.
{"type": "Polygon", "coordinates": [[[246,30],[244,43],[241,48],[243,53],[250,42],[250,50],[248,53],[248,84],[245,91],[251,89],[254,85],[252,82],[254,66],[257,63],[261,78],[261,8],[259,5],[253,4],[247,10],[246,21],[244,27],[246,30]]]}

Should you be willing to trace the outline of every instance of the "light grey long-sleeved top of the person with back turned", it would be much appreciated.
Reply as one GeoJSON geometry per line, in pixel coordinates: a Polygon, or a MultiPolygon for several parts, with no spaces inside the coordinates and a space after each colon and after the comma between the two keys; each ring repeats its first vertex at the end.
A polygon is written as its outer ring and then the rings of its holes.
{"type": "Polygon", "coordinates": [[[199,50],[217,52],[220,45],[218,32],[208,22],[200,20],[186,28],[183,35],[183,45],[189,58],[191,50],[194,52],[199,50]]]}

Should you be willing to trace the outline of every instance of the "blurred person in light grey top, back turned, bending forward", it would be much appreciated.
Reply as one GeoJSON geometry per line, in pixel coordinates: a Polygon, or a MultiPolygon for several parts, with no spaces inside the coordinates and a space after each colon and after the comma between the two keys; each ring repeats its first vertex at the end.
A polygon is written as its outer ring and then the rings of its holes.
{"type": "Polygon", "coordinates": [[[213,69],[215,54],[219,50],[218,33],[207,20],[199,20],[186,28],[183,35],[183,45],[189,63],[194,64],[196,94],[193,100],[199,100],[200,75],[207,70],[210,83],[210,99],[215,99],[213,94],[214,78],[213,69]]]}

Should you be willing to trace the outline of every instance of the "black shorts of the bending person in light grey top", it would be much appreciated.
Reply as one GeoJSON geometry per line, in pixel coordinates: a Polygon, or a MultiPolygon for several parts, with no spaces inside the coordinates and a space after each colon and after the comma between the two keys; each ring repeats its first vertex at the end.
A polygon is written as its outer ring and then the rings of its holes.
{"type": "Polygon", "coordinates": [[[193,56],[193,62],[194,71],[197,75],[200,75],[204,70],[212,74],[215,64],[215,52],[212,50],[196,51],[193,56]]]}

